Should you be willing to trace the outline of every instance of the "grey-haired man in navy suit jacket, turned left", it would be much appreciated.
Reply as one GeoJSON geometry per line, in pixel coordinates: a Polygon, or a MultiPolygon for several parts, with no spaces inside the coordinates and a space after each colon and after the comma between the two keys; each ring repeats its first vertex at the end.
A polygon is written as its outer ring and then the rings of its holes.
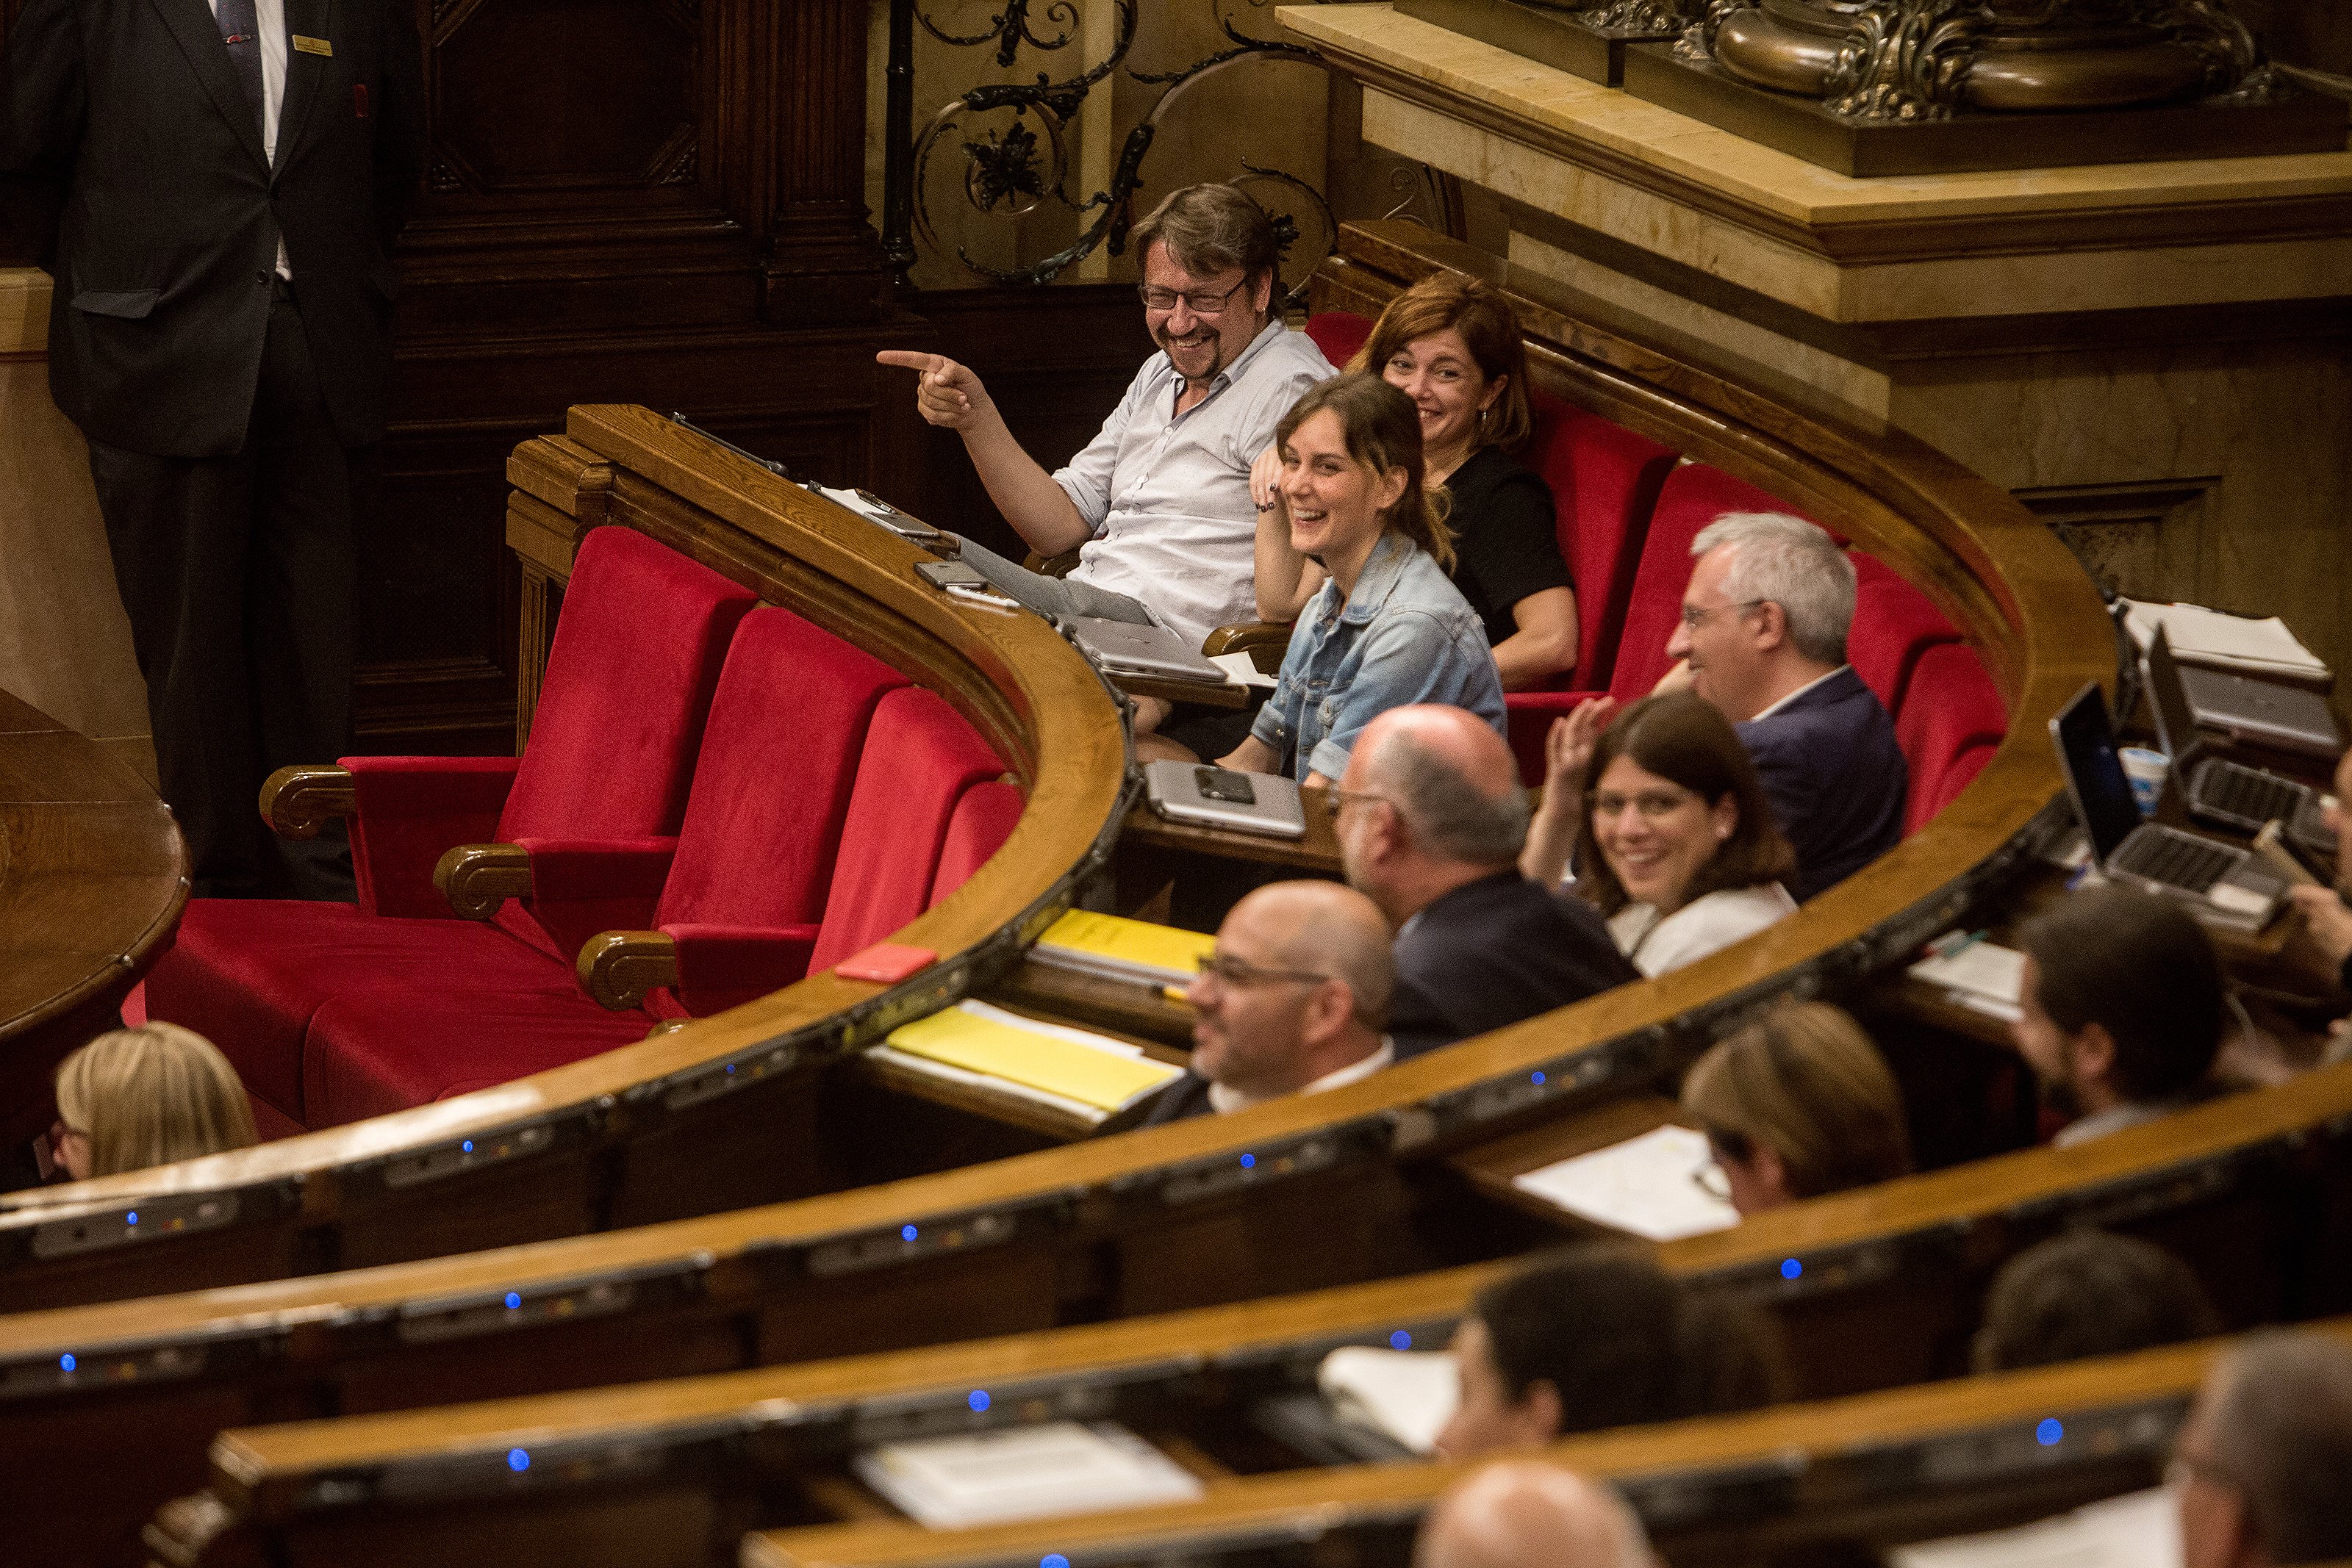
{"type": "MultiPolygon", "coordinates": [[[[1698,564],[1665,651],[1738,729],[1811,898],[1903,842],[1910,769],[1886,705],[1846,663],[1853,562],[1802,517],[1731,512],[1698,564]]],[[[1670,675],[1677,682],[1684,672],[1670,675]]]]}

